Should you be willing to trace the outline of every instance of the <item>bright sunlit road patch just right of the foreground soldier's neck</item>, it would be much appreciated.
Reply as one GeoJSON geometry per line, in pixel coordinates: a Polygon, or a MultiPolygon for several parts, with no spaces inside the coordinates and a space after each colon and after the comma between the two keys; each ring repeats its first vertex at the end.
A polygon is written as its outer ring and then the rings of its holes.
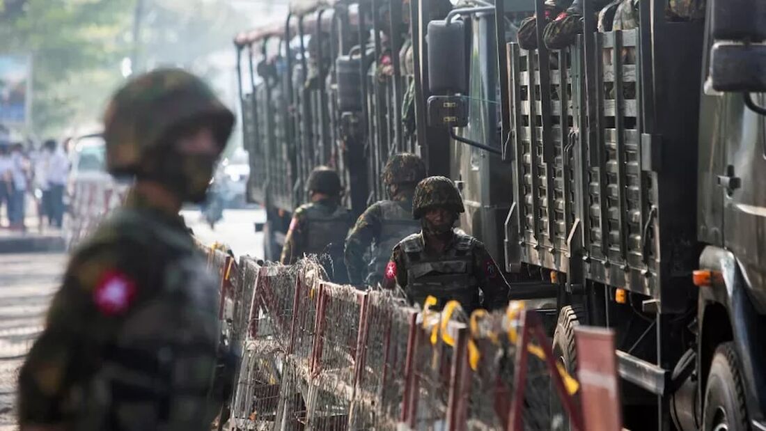
{"type": "Polygon", "coordinates": [[[254,224],[266,221],[266,211],[225,210],[223,220],[215,224],[214,229],[208,226],[199,211],[185,210],[181,214],[202,243],[227,243],[235,256],[263,258],[264,234],[256,232],[254,224]]]}

